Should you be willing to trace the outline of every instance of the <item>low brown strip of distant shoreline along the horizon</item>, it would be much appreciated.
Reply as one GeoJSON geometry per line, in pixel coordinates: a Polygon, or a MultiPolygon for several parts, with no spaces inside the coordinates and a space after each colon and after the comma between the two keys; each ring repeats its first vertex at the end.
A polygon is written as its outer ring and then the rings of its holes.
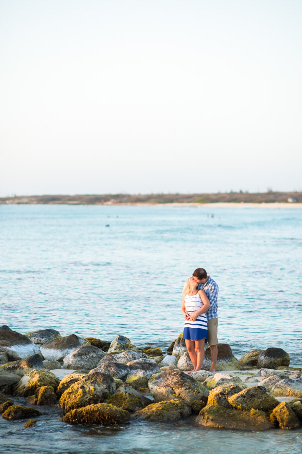
{"type": "Polygon", "coordinates": [[[229,192],[217,194],[101,194],[76,196],[14,196],[0,198],[0,204],[171,204],[171,203],[302,203],[302,192],[248,193],[229,192]]]}

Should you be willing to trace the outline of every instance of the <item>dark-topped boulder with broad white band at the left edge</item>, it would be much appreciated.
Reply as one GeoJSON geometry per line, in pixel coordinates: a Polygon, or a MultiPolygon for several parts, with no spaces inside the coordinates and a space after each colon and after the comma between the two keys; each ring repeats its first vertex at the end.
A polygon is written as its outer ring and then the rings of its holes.
{"type": "Polygon", "coordinates": [[[28,337],[11,329],[0,329],[0,348],[7,354],[10,361],[27,358],[39,353],[39,347],[33,344],[28,337]]]}

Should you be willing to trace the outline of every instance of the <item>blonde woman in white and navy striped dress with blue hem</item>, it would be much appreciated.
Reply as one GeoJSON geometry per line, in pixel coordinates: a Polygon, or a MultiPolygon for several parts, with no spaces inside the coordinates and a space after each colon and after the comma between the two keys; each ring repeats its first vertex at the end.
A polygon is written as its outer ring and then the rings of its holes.
{"type": "Polygon", "coordinates": [[[203,290],[198,290],[198,282],[194,277],[187,279],[182,291],[181,312],[184,316],[183,339],[188,349],[193,370],[200,371],[204,360],[204,343],[207,342],[208,321],[205,312],[210,302],[203,290]]]}

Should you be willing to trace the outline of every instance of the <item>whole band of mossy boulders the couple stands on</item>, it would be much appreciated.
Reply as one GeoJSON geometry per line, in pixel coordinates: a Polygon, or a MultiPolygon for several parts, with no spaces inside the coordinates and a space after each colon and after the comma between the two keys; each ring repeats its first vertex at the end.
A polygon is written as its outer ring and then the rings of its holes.
{"type": "Polygon", "coordinates": [[[218,372],[208,370],[207,348],[203,369],[189,374],[182,335],[165,352],[153,345],[139,349],[121,335],[109,343],[61,337],[53,329],[22,335],[3,325],[0,362],[0,413],[7,420],[38,417],[41,406],[43,412],[57,406],[71,424],[124,424],[133,414],[244,431],[302,425],[302,368],[291,368],[279,348],[252,350],[237,361],[230,345],[219,344],[218,372]],[[24,398],[28,406],[18,405],[24,398]]]}

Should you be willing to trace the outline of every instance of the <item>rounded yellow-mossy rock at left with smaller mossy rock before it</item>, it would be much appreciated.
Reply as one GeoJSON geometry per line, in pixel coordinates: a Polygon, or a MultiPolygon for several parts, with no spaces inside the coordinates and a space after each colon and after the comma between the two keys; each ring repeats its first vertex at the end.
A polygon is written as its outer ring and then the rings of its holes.
{"type": "Polygon", "coordinates": [[[51,386],[53,391],[57,390],[59,379],[52,372],[47,370],[32,370],[23,375],[15,386],[15,394],[18,396],[32,396],[41,386],[51,386]]]}

